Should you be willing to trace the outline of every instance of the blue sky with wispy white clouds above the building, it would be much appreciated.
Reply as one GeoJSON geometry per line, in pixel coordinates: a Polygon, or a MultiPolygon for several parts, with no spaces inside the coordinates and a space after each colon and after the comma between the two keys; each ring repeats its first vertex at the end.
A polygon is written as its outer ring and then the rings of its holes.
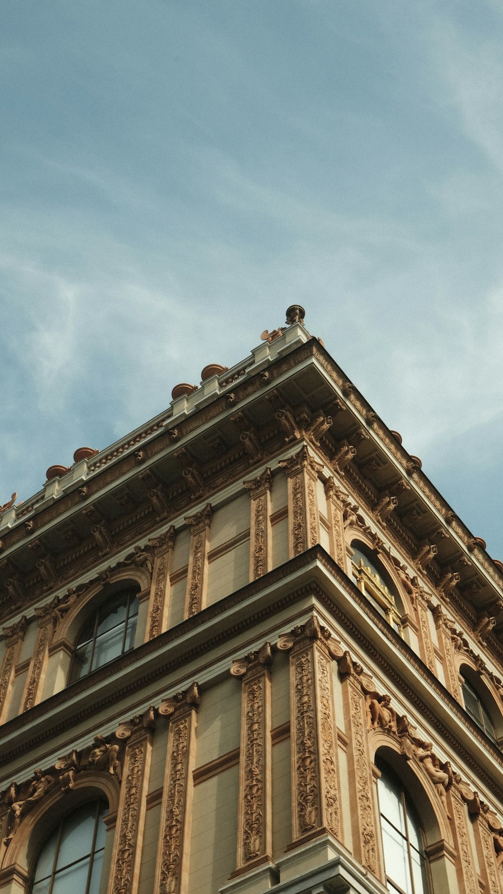
{"type": "Polygon", "coordinates": [[[10,0],[0,503],[300,302],[503,560],[500,0],[10,0]]]}

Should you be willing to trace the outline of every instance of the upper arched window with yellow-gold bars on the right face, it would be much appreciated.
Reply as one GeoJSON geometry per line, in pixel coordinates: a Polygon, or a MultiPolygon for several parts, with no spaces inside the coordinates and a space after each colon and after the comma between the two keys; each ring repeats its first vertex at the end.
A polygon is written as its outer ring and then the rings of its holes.
{"type": "Polygon", "coordinates": [[[351,569],[359,590],[369,597],[379,614],[386,618],[396,632],[402,634],[402,607],[398,602],[396,587],[388,571],[375,558],[371,549],[359,540],[351,544],[353,555],[351,569]]]}

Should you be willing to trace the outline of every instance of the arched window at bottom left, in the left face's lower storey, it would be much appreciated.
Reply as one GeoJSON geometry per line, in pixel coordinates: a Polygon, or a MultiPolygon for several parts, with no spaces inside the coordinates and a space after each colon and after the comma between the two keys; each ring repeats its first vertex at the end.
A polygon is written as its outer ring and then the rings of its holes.
{"type": "Polygon", "coordinates": [[[106,809],[93,801],[61,820],[38,854],[30,894],[98,894],[106,809]]]}

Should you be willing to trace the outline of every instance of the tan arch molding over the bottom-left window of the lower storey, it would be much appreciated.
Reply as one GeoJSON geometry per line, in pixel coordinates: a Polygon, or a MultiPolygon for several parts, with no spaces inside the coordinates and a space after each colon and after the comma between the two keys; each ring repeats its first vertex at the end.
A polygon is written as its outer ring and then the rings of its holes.
{"type": "MultiPolygon", "coordinates": [[[[0,870],[0,892],[9,890],[17,894],[19,890],[19,894],[24,894],[30,882],[34,859],[62,816],[72,814],[86,802],[102,798],[108,805],[107,816],[112,818],[119,805],[119,793],[119,782],[106,771],[89,770],[77,774],[73,780],[73,789],[67,793],[57,784],[51,786],[40,804],[24,817],[5,850],[0,870]]],[[[107,831],[112,829],[114,823],[107,822],[107,831]]]]}

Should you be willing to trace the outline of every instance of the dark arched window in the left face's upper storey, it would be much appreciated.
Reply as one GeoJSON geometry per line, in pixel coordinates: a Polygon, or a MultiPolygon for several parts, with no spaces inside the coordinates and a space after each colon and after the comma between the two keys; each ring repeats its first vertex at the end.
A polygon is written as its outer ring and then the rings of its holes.
{"type": "Polygon", "coordinates": [[[101,603],[81,630],[70,682],[129,652],[134,645],[137,620],[138,599],[132,589],[122,590],[101,603]]]}

